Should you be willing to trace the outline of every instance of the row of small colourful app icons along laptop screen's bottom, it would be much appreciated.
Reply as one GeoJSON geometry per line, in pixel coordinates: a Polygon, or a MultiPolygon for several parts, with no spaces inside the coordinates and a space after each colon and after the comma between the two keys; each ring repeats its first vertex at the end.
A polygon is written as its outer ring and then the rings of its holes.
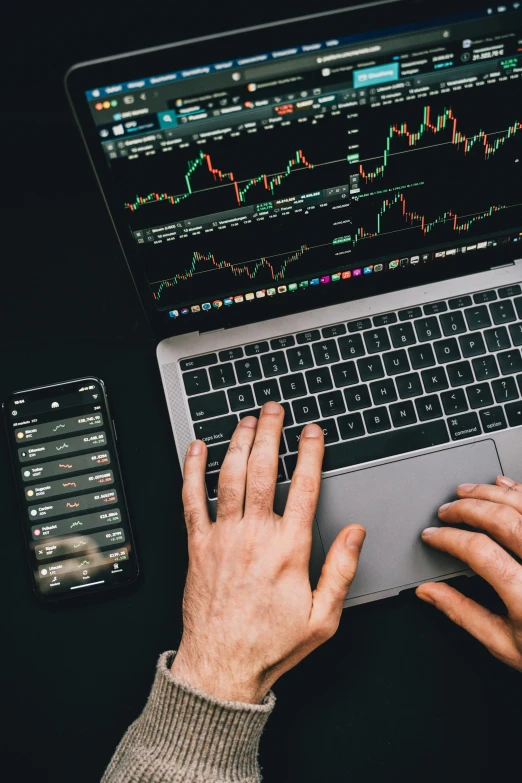
{"type": "Polygon", "coordinates": [[[468,242],[463,245],[445,248],[442,250],[432,250],[426,253],[419,253],[417,255],[394,258],[389,261],[368,264],[366,266],[347,269],[340,268],[335,272],[329,272],[328,274],[324,274],[319,277],[308,277],[303,280],[272,286],[269,288],[260,288],[257,290],[250,289],[242,293],[234,293],[230,296],[224,296],[222,299],[214,299],[212,301],[186,303],[183,305],[178,305],[178,307],[174,309],[164,308],[163,312],[166,314],[168,313],[170,318],[182,318],[190,314],[219,310],[222,307],[232,307],[234,305],[239,305],[244,302],[251,302],[256,299],[272,298],[274,296],[281,296],[288,293],[291,294],[295,293],[296,291],[302,291],[313,288],[315,286],[340,283],[347,280],[364,277],[366,275],[389,272],[395,269],[417,266],[419,264],[427,264],[432,261],[442,260],[443,258],[451,258],[452,256],[486,250],[488,248],[506,245],[511,242],[522,243],[522,231],[502,234],[493,239],[482,240],[480,242],[468,242]]]}

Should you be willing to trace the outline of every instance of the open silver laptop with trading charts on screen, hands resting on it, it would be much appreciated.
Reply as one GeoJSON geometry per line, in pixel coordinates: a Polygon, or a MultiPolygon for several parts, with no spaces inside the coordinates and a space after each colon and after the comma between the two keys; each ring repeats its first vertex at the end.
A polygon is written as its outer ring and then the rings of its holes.
{"type": "Polygon", "coordinates": [[[346,606],[469,573],[421,530],[522,478],[522,8],[401,0],[75,65],[66,86],[211,511],[239,419],[325,436],[311,579],[346,606]],[[435,18],[436,17],[436,18],[435,18]]]}

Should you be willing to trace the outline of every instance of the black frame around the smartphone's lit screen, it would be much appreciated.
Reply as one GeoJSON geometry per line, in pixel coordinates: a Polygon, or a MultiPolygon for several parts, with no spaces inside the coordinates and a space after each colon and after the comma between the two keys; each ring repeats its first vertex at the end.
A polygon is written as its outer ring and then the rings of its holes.
{"type": "Polygon", "coordinates": [[[107,391],[106,391],[104,382],[100,378],[96,378],[95,376],[86,376],[85,378],[76,378],[74,380],[64,381],[62,383],[53,383],[53,384],[49,384],[47,386],[38,386],[38,387],[31,388],[31,389],[22,389],[20,391],[14,391],[14,392],[9,394],[5,398],[5,400],[2,403],[2,409],[3,409],[3,415],[4,415],[4,425],[5,425],[5,429],[6,429],[6,433],[7,433],[7,441],[8,441],[8,444],[9,444],[9,453],[10,453],[10,457],[11,457],[11,466],[12,466],[12,469],[13,469],[13,479],[14,479],[14,483],[15,483],[15,487],[16,487],[18,509],[19,509],[19,514],[20,514],[20,523],[21,523],[21,526],[22,526],[22,532],[23,532],[24,541],[25,541],[25,551],[26,551],[26,555],[27,555],[27,562],[29,564],[29,570],[30,570],[30,573],[31,573],[31,583],[32,583],[32,588],[33,588],[33,592],[34,592],[35,596],[38,598],[39,601],[43,601],[44,603],[53,603],[54,604],[54,603],[58,603],[58,602],[61,602],[61,601],[71,601],[71,600],[77,601],[77,602],[81,602],[81,601],[85,601],[85,599],[87,599],[89,596],[95,596],[95,595],[98,595],[99,593],[107,593],[108,591],[112,591],[112,590],[122,590],[125,587],[128,587],[131,584],[133,584],[136,581],[136,579],[138,578],[138,576],[139,576],[139,563],[138,563],[138,558],[137,558],[137,555],[136,555],[136,545],[135,545],[135,541],[134,541],[134,535],[133,535],[132,525],[131,525],[131,520],[130,520],[130,515],[129,515],[129,508],[128,508],[128,505],[127,505],[127,498],[126,498],[126,494],[125,494],[125,487],[124,487],[124,484],[123,484],[123,477],[122,477],[122,473],[121,473],[120,459],[119,459],[118,449],[117,449],[117,445],[116,445],[117,444],[116,433],[115,433],[115,430],[114,430],[112,416],[111,416],[111,412],[110,412],[110,409],[109,409],[109,404],[108,404],[108,399],[107,399],[107,391]],[[24,504],[22,502],[22,495],[23,495],[23,493],[21,491],[21,488],[23,489],[23,486],[22,486],[22,483],[20,482],[20,478],[19,478],[18,473],[17,473],[18,463],[17,463],[17,460],[16,460],[16,450],[15,450],[15,445],[16,444],[13,444],[13,440],[10,437],[10,435],[11,435],[11,428],[9,426],[10,419],[8,417],[8,413],[7,412],[9,410],[9,408],[10,408],[11,402],[14,399],[17,399],[18,397],[21,397],[21,396],[28,397],[29,395],[31,395],[31,399],[32,400],[45,399],[46,397],[50,397],[50,396],[54,396],[54,395],[68,394],[70,392],[74,392],[74,391],[77,390],[78,384],[86,384],[86,383],[89,383],[89,382],[92,382],[92,381],[94,381],[95,383],[99,384],[100,388],[102,389],[102,392],[103,392],[103,406],[104,406],[104,413],[105,413],[105,417],[106,417],[106,421],[107,421],[106,429],[108,429],[109,432],[110,432],[110,437],[111,437],[110,448],[111,448],[111,450],[112,450],[112,452],[114,454],[113,471],[116,470],[118,472],[118,475],[119,475],[121,494],[122,494],[122,499],[121,499],[120,505],[123,506],[123,509],[125,511],[125,514],[126,514],[127,529],[128,529],[128,533],[129,533],[129,544],[130,544],[130,547],[131,547],[131,554],[130,554],[130,557],[129,557],[129,562],[132,565],[132,571],[131,571],[130,576],[127,579],[125,579],[123,582],[120,582],[120,583],[115,582],[114,584],[109,584],[109,585],[100,585],[100,586],[96,585],[92,590],[88,591],[87,593],[83,593],[82,594],[81,591],[80,592],[68,591],[68,592],[65,592],[65,593],[58,593],[57,595],[54,595],[54,596],[44,595],[43,593],[40,592],[40,590],[38,588],[38,583],[36,581],[35,574],[34,574],[34,564],[33,564],[32,557],[31,557],[32,539],[31,539],[31,537],[29,535],[29,530],[28,530],[28,527],[27,527],[27,524],[26,524],[26,517],[25,517],[25,513],[24,513],[26,509],[25,509],[25,506],[24,506],[24,504]],[[44,394],[42,396],[39,396],[39,393],[42,393],[42,392],[44,392],[44,394]]]}

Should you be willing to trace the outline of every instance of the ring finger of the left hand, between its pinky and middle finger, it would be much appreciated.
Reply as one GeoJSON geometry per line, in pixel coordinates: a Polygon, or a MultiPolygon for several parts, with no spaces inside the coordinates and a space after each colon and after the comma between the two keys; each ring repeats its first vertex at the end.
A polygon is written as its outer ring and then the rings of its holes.
{"type": "Polygon", "coordinates": [[[237,522],[243,516],[248,459],[256,429],[257,419],[245,416],[232,435],[219,474],[217,522],[237,522]]]}

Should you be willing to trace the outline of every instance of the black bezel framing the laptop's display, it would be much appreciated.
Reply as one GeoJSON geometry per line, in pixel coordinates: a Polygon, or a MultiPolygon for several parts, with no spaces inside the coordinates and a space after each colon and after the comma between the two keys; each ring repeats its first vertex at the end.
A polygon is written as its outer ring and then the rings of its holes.
{"type": "MultiPolygon", "coordinates": [[[[441,23],[450,23],[469,11],[481,11],[482,6],[479,3],[480,0],[474,2],[463,0],[456,11],[454,2],[441,0],[434,11],[433,5],[428,0],[385,0],[384,3],[359,5],[339,11],[264,24],[255,28],[233,30],[215,36],[194,38],[155,49],[121,54],[72,66],[65,77],[69,100],[141,304],[158,339],[190,332],[243,326],[401,288],[482,272],[492,266],[513,263],[520,256],[520,250],[508,243],[459,257],[457,262],[454,257],[451,257],[432,261],[426,265],[397,269],[393,273],[387,271],[379,276],[361,276],[352,279],[349,284],[317,286],[300,290],[295,294],[288,293],[285,296],[273,297],[270,299],[270,307],[267,307],[266,299],[255,299],[243,303],[241,307],[213,309],[206,313],[199,313],[198,316],[189,314],[169,319],[154,307],[136,245],[131,238],[123,210],[120,208],[110,168],[90,115],[85,91],[104,84],[217,62],[226,57],[248,56],[268,49],[326,40],[332,35],[338,35],[339,30],[354,33],[382,30],[383,33],[388,34],[390,29],[394,33],[400,33],[401,27],[397,24],[400,20],[405,23],[403,25],[405,28],[423,21],[440,20],[441,23]],[[377,12],[378,23],[375,21],[377,12]]],[[[483,10],[485,12],[485,8],[483,10]]]]}

